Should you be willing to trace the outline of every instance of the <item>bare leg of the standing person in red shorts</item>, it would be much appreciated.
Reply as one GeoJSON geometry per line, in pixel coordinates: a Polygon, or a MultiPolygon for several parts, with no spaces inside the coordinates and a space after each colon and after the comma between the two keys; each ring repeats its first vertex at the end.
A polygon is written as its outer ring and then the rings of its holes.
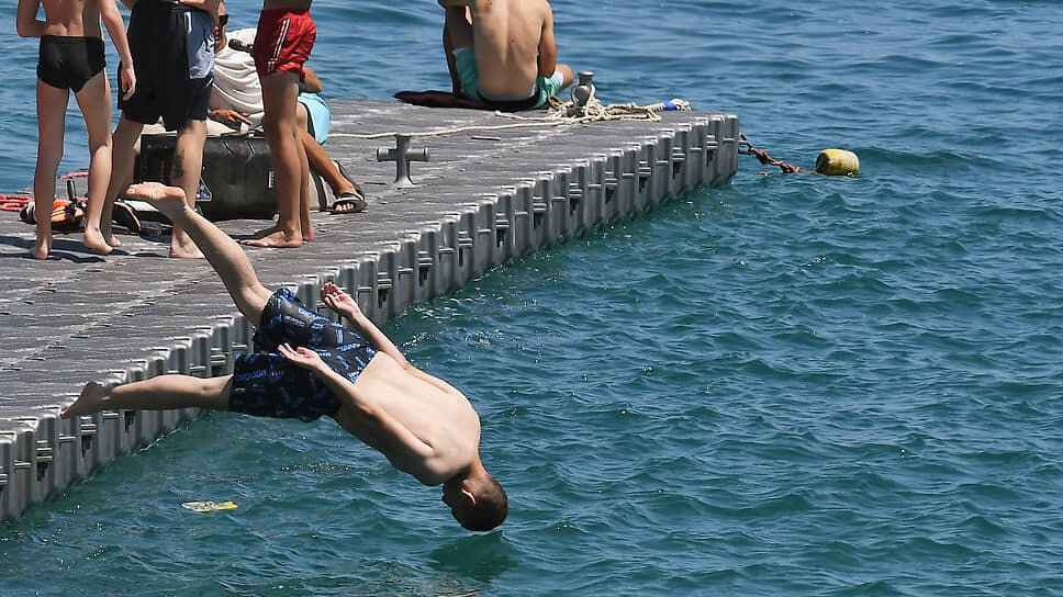
{"type": "Polygon", "coordinates": [[[303,196],[306,189],[301,188],[302,164],[306,155],[299,140],[295,121],[298,80],[293,72],[273,72],[262,78],[262,104],[266,108],[262,128],[269,142],[277,181],[278,217],[275,226],[260,230],[255,238],[245,240],[245,245],[295,248],[302,247],[303,240],[307,240],[303,237],[303,230],[310,228],[310,200],[303,196]]]}

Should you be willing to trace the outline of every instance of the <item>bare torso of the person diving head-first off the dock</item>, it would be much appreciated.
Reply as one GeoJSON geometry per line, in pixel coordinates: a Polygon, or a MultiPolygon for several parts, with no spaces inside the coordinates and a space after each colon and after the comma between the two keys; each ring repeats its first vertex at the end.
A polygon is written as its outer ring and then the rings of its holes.
{"type": "Polygon", "coordinates": [[[377,429],[367,428],[347,403],[334,415],[336,423],[424,485],[439,485],[478,459],[480,417],[465,395],[446,382],[413,365],[404,369],[387,353],[378,352],[354,387],[409,429],[422,449],[391,450],[377,437],[377,429]]]}

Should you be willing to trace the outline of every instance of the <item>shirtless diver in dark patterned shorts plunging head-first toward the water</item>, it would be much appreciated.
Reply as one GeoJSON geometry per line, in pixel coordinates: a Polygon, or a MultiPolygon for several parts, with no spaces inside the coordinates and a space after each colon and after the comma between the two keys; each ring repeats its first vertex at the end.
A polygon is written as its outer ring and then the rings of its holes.
{"type": "Polygon", "coordinates": [[[395,345],[334,284],[322,301],[359,331],[307,309],[287,289],[270,293],[247,256],[192,211],[184,193],[156,182],[133,185],[181,225],[206,256],[236,306],[258,331],[223,378],[160,375],[104,387],[90,382],[63,417],[100,410],[200,407],[314,420],[327,415],[424,485],[463,527],[490,530],[507,511],[505,492],[480,462],[480,417],[450,384],[410,364],[395,345]]]}

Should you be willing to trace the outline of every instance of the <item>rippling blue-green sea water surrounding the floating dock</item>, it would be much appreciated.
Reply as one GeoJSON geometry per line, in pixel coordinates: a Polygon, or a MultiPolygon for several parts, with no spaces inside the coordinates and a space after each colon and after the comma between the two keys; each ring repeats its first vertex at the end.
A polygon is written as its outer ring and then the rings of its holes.
{"type": "MultiPolygon", "coordinates": [[[[447,85],[409,4],[315,2],[333,97],[447,85]]],[[[480,410],[501,531],[332,424],[216,414],[0,526],[0,594],[1063,595],[1063,4],[880,4],[553,2],[606,101],[862,174],[743,158],[393,322],[480,410]]],[[[15,190],[35,45],[0,46],[15,190]]]]}

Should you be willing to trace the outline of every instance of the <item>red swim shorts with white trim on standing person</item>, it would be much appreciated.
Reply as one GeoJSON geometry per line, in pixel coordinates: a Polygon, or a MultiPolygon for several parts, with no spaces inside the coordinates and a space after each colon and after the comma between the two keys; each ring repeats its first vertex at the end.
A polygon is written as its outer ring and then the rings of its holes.
{"type": "Polygon", "coordinates": [[[264,10],[258,18],[258,33],[251,56],[259,77],[273,72],[295,72],[306,78],[303,63],[317,38],[317,27],[309,10],[264,10]]]}

